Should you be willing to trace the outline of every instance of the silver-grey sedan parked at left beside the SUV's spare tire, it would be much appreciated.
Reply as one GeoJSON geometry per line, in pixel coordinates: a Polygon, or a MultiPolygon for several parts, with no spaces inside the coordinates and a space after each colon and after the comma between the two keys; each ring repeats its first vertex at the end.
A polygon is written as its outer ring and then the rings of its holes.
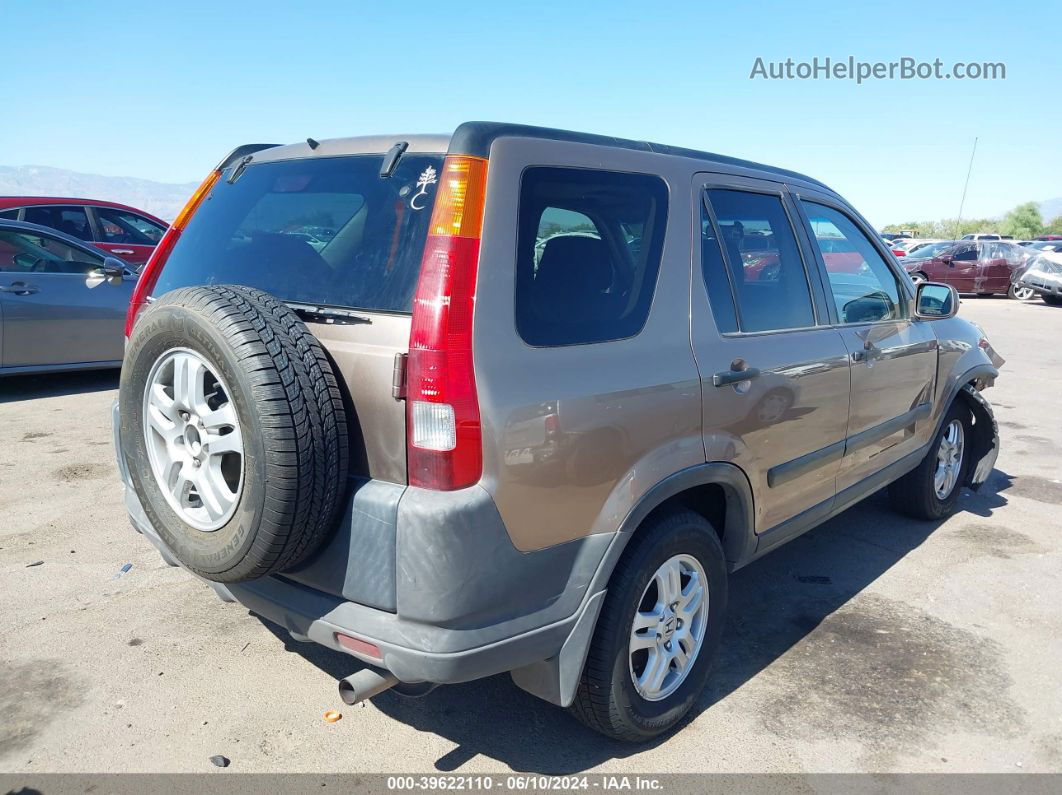
{"type": "Polygon", "coordinates": [[[121,366],[136,280],[76,238],[0,221],[0,376],[121,366]]]}

